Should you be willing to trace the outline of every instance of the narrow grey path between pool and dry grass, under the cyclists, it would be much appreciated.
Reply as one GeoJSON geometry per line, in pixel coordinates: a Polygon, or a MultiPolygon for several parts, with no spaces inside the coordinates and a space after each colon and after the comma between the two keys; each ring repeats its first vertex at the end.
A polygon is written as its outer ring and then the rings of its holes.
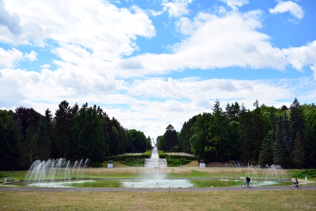
{"type": "MultiPolygon", "coordinates": [[[[315,190],[316,186],[303,186],[302,190],[292,191],[304,191],[315,190]]],[[[133,191],[144,191],[144,192],[155,192],[155,191],[280,191],[290,190],[289,186],[265,186],[265,187],[254,187],[254,188],[239,188],[239,187],[228,187],[228,188],[22,188],[22,187],[1,187],[0,191],[69,191],[69,192],[133,192],[133,191]]]]}

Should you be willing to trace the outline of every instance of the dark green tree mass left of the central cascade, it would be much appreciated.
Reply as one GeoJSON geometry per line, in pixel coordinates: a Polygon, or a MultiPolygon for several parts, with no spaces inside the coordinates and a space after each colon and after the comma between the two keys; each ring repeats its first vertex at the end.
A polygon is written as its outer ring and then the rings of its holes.
{"type": "Polygon", "coordinates": [[[34,160],[65,158],[103,162],[105,156],[145,152],[151,139],[126,129],[100,106],[62,101],[55,115],[33,108],[0,110],[0,170],[27,169],[34,160]]]}

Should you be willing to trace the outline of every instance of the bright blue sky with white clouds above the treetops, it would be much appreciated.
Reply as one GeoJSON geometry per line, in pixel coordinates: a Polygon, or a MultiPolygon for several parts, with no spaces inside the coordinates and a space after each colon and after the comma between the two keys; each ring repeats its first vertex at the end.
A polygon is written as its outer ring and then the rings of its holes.
{"type": "Polygon", "coordinates": [[[316,99],[314,0],[0,0],[0,109],[87,102],[156,139],[295,97],[316,99]]]}

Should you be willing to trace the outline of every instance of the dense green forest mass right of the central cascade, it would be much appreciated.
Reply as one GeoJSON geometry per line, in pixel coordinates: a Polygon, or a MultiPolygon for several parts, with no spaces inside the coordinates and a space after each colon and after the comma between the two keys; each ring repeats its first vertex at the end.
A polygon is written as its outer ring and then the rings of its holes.
{"type": "Polygon", "coordinates": [[[228,103],[225,110],[216,100],[212,113],[183,123],[180,132],[171,124],[157,138],[158,148],[192,153],[206,162],[242,160],[244,164],[281,165],[284,168],[316,167],[316,106],[259,106],[249,110],[228,103]]]}

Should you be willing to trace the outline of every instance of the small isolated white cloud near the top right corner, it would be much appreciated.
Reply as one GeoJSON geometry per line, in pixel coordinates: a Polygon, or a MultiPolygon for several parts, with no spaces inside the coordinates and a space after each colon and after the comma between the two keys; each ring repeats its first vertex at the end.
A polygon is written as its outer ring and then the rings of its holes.
{"type": "Polygon", "coordinates": [[[289,12],[298,19],[304,17],[303,8],[293,1],[280,1],[275,8],[270,8],[269,12],[272,14],[289,12]]]}

